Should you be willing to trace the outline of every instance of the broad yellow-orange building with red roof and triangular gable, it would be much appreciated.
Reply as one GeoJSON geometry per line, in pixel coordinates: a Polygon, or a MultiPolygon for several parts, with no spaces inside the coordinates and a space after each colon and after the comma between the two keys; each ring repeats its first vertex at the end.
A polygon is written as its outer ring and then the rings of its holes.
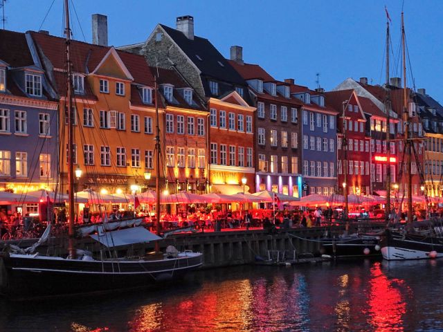
{"type": "MultiPolygon", "coordinates": [[[[44,33],[31,35],[48,81],[60,95],[60,109],[65,109],[64,39],[44,33]]],[[[157,176],[156,116],[154,77],[144,57],[77,41],[71,42],[71,54],[75,102],[72,152],[75,167],[82,170],[75,189],[130,192],[134,185],[147,187],[147,178],[153,181],[157,176]]],[[[163,128],[162,116],[159,118],[163,128]]],[[[60,112],[60,171],[64,183],[66,122],[66,111],[60,112]]]]}

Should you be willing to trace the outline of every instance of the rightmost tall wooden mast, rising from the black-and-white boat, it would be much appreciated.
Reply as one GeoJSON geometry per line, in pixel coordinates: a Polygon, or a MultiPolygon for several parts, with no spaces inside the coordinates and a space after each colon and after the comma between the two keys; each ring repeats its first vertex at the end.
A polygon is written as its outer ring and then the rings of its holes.
{"type": "Polygon", "coordinates": [[[401,45],[403,51],[403,118],[405,129],[404,129],[404,139],[405,139],[405,149],[406,150],[406,176],[408,177],[408,226],[412,227],[413,221],[413,184],[412,184],[412,174],[411,174],[411,156],[412,153],[411,145],[412,140],[410,139],[410,116],[408,112],[408,96],[406,93],[406,50],[405,50],[405,33],[404,33],[404,13],[401,12],[401,45]]]}

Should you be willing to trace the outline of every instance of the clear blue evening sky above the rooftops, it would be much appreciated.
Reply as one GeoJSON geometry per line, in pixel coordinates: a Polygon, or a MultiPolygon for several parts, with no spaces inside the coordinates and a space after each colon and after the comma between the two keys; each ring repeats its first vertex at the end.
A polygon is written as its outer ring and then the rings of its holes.
{"type": "MultiPolygon", "coordinates": [[[[62,0],[7,0],[6,28],[49,30],[62,36],[62,0]],[[54,1],[54,3],[53,3],[54,1]],[[51,10],[48,9],[53,3],[51,10]],[[48,12],[46,20],[44,17],[48,12]]],[[[74,0],[75,39],[91,41],[91,15],[108,16],[109,44],[144,41],[157,23],[175,26],[175,18],[192,15],[195,34],[208,38],[225,55],[243,46],[244,61],[260,64],[278,80],[333,89],[347,77],[385,80],[384,47],[388,6],[392,18],[391,76],[398,64],[401,0],[74,0]],[[80,27],[84,33],[80,30],[80,27]]],[[[416,88],[443,102],[443,1],[404,1],[406,38],[416,88]]],[[[73,10],[72,10],[73,11],[73,10]]],[[[410,72],[408,71],[408,82],[410,72]]],[[[410,83],[408,83],[410,85],[410,83]]]]}

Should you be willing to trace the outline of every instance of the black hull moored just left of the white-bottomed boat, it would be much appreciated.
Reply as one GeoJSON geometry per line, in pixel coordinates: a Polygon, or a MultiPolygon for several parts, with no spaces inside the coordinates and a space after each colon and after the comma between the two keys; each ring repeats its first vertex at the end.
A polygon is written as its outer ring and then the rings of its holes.
{"type": "Polygon", "coordinates": [[[381,257],[378,237],[350,237],[323,239],[324,253],[335,259],[381,257]]]}

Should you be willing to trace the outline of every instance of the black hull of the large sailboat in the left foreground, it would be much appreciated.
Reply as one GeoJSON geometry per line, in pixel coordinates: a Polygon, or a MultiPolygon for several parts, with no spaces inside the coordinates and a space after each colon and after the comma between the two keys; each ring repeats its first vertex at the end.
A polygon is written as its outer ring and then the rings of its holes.
{"type": "MultiPolygon", "coordinates": [[[[185,255],[185,254],[181,254],[185,255]]],[[[12,300],[85,293],[106,293],[147,287],[182,277],[201,266],[203,255],[152,261],[87,261],[4,255],[0,292],[12,300]]]]}

